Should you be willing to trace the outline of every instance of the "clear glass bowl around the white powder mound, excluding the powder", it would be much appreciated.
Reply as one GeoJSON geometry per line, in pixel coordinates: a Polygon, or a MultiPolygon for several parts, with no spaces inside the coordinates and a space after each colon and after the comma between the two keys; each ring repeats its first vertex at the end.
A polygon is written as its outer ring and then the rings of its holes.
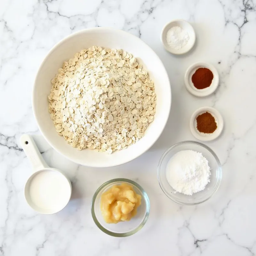
{"type": "Polygon", "coordinates": [[[182,141],[173,145],[164,152],[164,155],[161,157],[158,164],[157,177],[164,194],[172,199],[172,201],[178,204],[195,205],[205,202],[217,191],[222,178],[222,170],[220,160],[211,148],[197,141],[182,141]],[[202,153],[202,155],[208,160],[211,168],[210,182],[206,185],[204,190],[199,191],[192,196],[176,192],[168,183],[166,178],[166,165],[168,161],[174,154],[181,150],[194,150],[202,153]]]}

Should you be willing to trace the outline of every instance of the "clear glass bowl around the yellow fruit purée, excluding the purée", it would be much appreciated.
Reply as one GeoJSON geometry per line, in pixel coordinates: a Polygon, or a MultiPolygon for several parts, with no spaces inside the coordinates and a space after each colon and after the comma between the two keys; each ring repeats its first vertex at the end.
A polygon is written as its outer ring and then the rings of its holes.
{"type": "Polygon", "coordinates": [[[138,232],[147,222],[150,210],[149,198],[145,190],[133,180],[128,179],[113,179],[102,184],[92,197],[91,212],[92,219],[101,231],[116,237],[131,236],[138,232]],[[100,199],[102,193],[108,190],[113,185],[128,183],[132,185],[136,194],[141,196],[141,205],[137,209],[137,214],[129,221],[121,221],[117,224],[108,224],[104,221],[100,210],[100,199]]]}

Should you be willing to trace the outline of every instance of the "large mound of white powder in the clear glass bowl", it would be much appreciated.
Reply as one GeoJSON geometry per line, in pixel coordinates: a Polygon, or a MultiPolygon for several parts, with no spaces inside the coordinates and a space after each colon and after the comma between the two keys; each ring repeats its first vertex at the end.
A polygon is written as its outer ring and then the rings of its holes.
{"type": "Polygon", "coordinates": [[[208,160],[193,150],[182,150],[169,160],[166,178],[176,192],[192,195],[204,190],[210,182],[208,160]]]}

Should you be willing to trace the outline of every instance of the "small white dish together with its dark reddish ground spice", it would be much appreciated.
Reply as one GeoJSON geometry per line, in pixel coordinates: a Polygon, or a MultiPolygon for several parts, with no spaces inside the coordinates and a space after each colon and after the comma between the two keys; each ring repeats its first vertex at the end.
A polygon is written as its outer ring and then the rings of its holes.
{"type": "Polygon", "coordinates": [[[184,82],[188,92],[197,97],[205,97],[217,89],[219,74],[211,64],[196,62],[187,69],[184,82]]]}

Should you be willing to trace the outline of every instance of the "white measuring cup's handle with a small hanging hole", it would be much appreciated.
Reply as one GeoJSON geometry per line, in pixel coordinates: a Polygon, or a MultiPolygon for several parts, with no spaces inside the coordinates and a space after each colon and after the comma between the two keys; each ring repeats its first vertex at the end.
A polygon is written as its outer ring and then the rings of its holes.
{"type": "Polygon", "coordinates": [[[39,152],[35,141],[30,135],[23,134],[20,137],[20,143],[26,156],[28,157],[28,160],[33,166],[34,172],[49,168],[49,166],[45,163],[41,153],[39,152]]]}

